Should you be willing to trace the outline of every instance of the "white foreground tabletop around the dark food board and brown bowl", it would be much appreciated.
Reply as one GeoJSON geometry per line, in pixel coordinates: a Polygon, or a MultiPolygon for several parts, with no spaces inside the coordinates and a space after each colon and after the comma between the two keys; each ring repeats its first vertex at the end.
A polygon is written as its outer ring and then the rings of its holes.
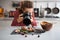
{"type": "Polygon", "coordinates": [[[39,38],[37,35],[27,35],[27,37],[22,35],[10,35],[16,28],[17,27],[0,26],[0,40],[60,40],[60,22],[53,23],[52,29],[40,34],[39,38]]]}

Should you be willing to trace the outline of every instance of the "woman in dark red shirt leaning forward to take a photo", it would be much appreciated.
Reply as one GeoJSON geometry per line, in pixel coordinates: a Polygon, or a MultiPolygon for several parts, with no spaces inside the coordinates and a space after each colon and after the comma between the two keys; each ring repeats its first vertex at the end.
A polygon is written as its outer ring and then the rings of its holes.
{"type": "Polygon", "coordinates": [[[33,3],[31,1],[23,1],[21,4],[21,10],[17,10],[15,12],[14,20],[11,24],[11,26],[26,26],[23,23],[23,17],[21,17],[24,12],[29,12],[31,14],[31,25],[32,26],[37,26],[37,23],[34,19],[34,11],[33,11],[33,3]]]}

